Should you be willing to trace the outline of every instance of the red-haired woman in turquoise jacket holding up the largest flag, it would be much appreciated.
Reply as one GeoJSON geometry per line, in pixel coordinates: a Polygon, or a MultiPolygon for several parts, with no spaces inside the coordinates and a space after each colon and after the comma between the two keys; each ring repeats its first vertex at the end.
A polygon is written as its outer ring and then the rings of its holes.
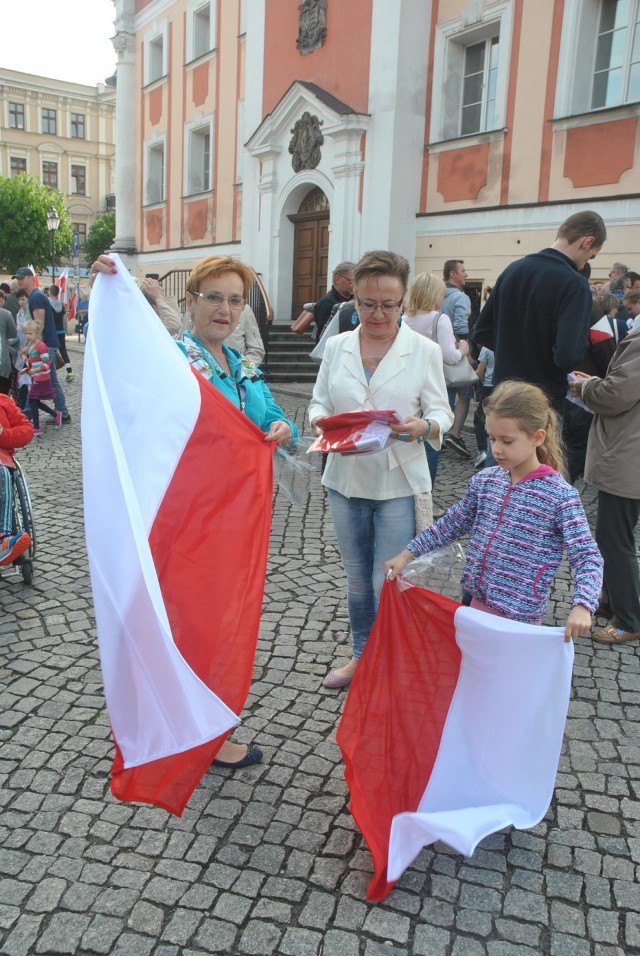
{"type": "MultiPolygon", "coordinates": [[[[113,259],[104,255],[91,266],[92,275],[115,271],[113,259]]],[[[295,424],[285,418],[257,366],[225,344],[225,339],[238,324],[253,278],[249,266],[230,256],[201,259],[187,280],[186,300],[191,328],[183,332],[176,345],[195,371],[266,433],[265,441],[287,445],[298,437],[295,424]]],[[[242,481],[240,460],[237,470],[238,481],[242,481]]],[[[247,746],[225,740],[213,763],[218,767],[237,769],[261,760],[262,751],[255,744],[247,746]]]]}

